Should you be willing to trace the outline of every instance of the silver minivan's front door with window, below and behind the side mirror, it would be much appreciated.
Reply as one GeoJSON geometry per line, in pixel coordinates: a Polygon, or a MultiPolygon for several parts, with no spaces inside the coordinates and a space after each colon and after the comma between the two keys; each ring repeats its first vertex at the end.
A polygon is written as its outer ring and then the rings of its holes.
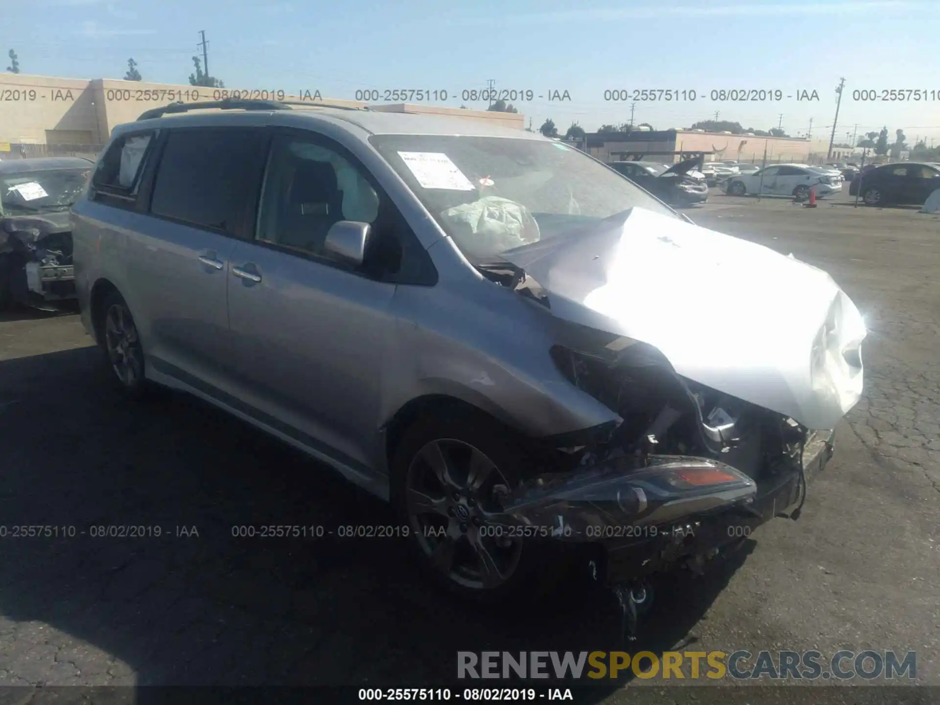
{"type": "Polygon", "coordinates": [[[231,255],[239,396],[305,446],[368,467],[396,285],[324,249],[340,220],[380,234],[387,204],[352,155],[309,132],[274,138],[255,239],[231,255]]]}

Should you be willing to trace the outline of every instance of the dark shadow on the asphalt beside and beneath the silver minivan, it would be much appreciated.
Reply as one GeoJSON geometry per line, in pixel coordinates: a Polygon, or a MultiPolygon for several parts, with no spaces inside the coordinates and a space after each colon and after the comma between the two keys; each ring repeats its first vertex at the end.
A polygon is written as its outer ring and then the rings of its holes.
{"type": "MultiPolygon", "coordinates": [[[[622,648],[606,591],[570,587],[550,606],[506,613],[432,589],[402,540],[235,538],[247,525],[316,534],[393,519],[319,463],[195,399],[121,399],[99,354],[0,363],[0,397],[15,401],[0,406],[0,524],[58,533],[0,540],[6,682],[418,687],[454,682],[458,650],[622,648]],[[139,536],[93,536],[108,526],[139,536]]],[[[746,554],[664,583],[626,650],[692,646],[682,640],[746,554]]]]}

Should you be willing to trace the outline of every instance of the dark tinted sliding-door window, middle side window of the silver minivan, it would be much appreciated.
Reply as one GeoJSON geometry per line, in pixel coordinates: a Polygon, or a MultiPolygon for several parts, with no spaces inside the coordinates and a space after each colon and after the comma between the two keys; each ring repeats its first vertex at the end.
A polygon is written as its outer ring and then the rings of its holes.
{"type": "Polygon", "coordinates": [[[153,184],[150,211],[242,236],[248,231],[244,218],[263,168],[261,146],[258,130],[170,131],[153,184]]]}

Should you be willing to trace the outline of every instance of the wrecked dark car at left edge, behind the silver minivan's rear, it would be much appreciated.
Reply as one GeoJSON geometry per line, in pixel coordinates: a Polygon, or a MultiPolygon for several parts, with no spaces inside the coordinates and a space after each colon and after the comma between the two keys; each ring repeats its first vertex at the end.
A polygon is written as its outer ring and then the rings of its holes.
{"type": "Polygon", "coordinates": [[[0,163],[0,306],[75,298],[69,209],[93,166],[74,157],[0,163]]]}

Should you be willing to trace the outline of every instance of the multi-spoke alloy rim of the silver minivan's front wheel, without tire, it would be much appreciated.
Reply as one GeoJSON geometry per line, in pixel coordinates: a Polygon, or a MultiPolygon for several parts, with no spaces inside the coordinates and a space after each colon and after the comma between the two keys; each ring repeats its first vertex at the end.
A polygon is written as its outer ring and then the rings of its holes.
{"type": "Polygon", "coordinates": [[[508,492],[496,465],[463,441],[438,439],[415,453],[405,483],[408,521],[435,570],[472,589],[509,581],[522,540],[487,525],[499,495],[508,492]]]}

